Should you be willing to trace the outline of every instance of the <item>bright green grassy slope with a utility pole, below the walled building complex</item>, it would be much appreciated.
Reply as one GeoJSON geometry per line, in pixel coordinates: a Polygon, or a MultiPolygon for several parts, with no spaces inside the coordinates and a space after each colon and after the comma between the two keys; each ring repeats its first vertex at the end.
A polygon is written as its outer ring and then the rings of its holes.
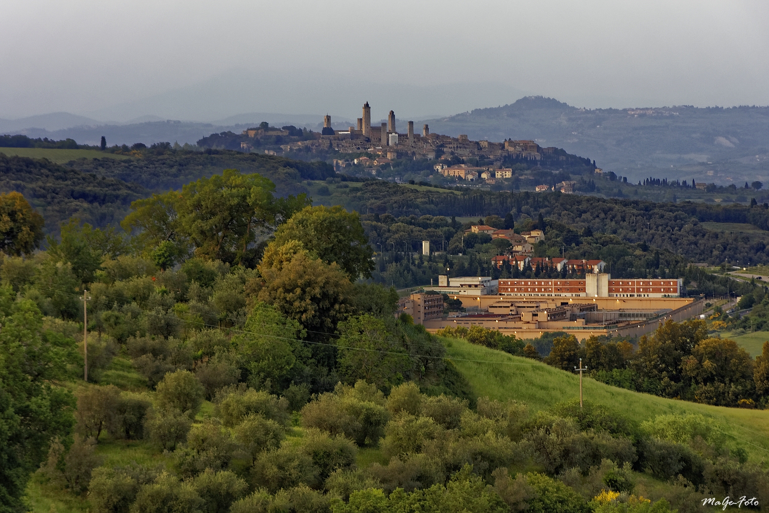
{"type": "MultiPolygon", "coordinates": [[[[478,396],[525,401],[534,411],[579,397],[578,375],[464,340],[446,343],[448,355],[478,396]]],[[[670,413],[700,413],[714,418],[736,445],[749,452],[751,460],[769,461],[769,410],[676,401],[604,385],[591,378],[584,378],[583,393],[586,400],[621,410],[638,422],[670,413]]]]}

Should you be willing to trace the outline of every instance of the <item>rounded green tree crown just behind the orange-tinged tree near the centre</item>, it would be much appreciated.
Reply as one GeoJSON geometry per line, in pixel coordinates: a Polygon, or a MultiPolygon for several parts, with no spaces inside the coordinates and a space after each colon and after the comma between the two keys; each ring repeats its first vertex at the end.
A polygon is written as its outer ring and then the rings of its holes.
{"type": "Polygon", "coordinates": [[[306,207],[275,232],[277,245],[288,241],[300,241],[327,264],[336,262],[352,281],[361,275],[371,277],[373,251],[357,212],[347,212],[339,205],[306,207]]]}

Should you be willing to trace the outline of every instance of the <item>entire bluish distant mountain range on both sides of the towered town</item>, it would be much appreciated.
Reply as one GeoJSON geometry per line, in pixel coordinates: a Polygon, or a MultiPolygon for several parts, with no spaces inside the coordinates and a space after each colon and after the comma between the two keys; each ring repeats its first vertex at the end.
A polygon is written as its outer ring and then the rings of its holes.
{"type": "MultiPolygon", "coordinates": [[[[332,119],[336,128],[354,124],[344,116],[332,119]]],[[[56,112],[0,119],[0,132],[73,138],[81,144],[98,144],[102,135],[108,145],[195,144],[211,133],[241,132],[263,121],[317,130],[322,115],[251,112],[211,123],[145,115],[125,123],[105,123],[56,112]]],[[[527,96],[501,107],[414,122],[418,130],[427,123],[431,132],[466,134],[473,140],[534,139],[541,146],[557,146],[594,159],[598,167],[633,181],[654,176],[737,185],[760,180],[769,186],[769,107],[585,109],[527,96]]],[[[404,124],[400,121],[398,126],[404,124]]]]}

